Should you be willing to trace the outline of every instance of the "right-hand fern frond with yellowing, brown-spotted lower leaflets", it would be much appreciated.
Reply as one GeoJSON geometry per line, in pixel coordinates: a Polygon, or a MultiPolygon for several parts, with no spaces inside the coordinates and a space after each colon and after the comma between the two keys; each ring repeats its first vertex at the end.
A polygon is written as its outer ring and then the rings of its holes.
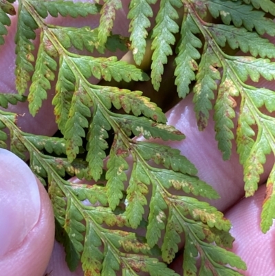
{"type": "MultiPolygon", "coordinates": [[[[179,95],[186,96],[189,85],[194,81],[195,112],[199,129],[206,127],[209,111],[214,100],[214,120],[216,140],[229,159],[234,139],[233,118],[236,116],[236,96],[241,96],[239,119],[236,130],[237,151],[244,167],[246,196],[253,195],[258,189],[260,176],[266,156],[275,154],[274,147],[274,91],[257,88],[245,82],[251,79],[258,82],[260,77],[267,81],[274,79],[275,46],[261,35],[275,35],[272,1],[204,1],[201,5],[191,5],[186,1],[185,15],[181,30],[181,42],[176,63],[179,95]],[[221,23],[206,22],[206,8],[221,23]],[[258,9],[258,10],[255,10],[258,9]],[[269,12],[270,14],[265,14],[269,12]],[[186,29],[188,26],[188,30],[186,29]],[[194,43],[186,41],[192,39],[194,43]],[[201,56],[197,51],[203,45],[201,56]],[[246,56],[231,56],[228,47],[239,49],[246,56]],[[185,61],[181,61],[182,58],[185,61]],[[187,67],[186,75],[181,74],[181,63],[187,67]],[[197,65],[198,64],[198,65],[197,65]],[[221,68],[221,71],[219,69],[221,68]],[[183,80],[184,84],[179,80],[183,80]],[[219,80],[221,81],[219,82],[219,80]],[[266,111],[263,110],[266,109],[266,111]],[[256,127],[255,127],[256,126],[256,127]],[[256,131],[255,131],[256,129],[256,131]]],[[[275,215],[270,211],[273,206],[273,172],[267,184],[267,198],[263,203],[261,227],[266,232],[272,225],[275,215]]],[[[187,262],[194,267],[194,262],[187,262]]],[[[186,263],[186,264],[187,264],[186,263]]],[[[201,270],[203,273],[207,271],[201,270]]]]}

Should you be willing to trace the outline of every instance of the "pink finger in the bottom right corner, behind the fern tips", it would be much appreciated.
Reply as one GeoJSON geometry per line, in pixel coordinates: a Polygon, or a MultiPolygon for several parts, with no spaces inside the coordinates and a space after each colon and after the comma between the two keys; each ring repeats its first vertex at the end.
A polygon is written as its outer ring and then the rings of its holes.
{"type": "Polygon", "coordinates": [[[274,275],[275,228],[263,234],[260,229],[261,209],[265,197],[265,187],[259,188],[252,198],[245,198],[225,213],[232,222],[231,233],[235,237],[234,253],[247,264],[245,276],[274,275]]]}

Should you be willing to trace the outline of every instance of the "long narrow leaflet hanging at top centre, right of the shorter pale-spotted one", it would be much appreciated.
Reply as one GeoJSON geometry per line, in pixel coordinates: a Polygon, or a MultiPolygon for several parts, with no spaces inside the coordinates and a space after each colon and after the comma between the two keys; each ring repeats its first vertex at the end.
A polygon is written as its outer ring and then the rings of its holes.
{"type": "Polygon", "coordinates": [[[156,25],[151,34],[152,42],[152,65],[151,78],[155,90],[159,89],[164,72],[164,64],[167,63],[167,56],[173,54],[171,46],[175,43],[174,34],[179,32],[179,26],[175,22],[178,19],[175,7],[182,6],[179,0],[162,0],[160,1],[159,12],[155,18],[156,25]]]}

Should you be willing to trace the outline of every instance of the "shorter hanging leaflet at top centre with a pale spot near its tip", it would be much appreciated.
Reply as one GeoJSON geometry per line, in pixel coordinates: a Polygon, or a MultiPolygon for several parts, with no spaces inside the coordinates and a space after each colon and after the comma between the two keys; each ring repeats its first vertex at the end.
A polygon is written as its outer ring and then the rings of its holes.
{"type": "Polygon", "coordinates": [[[151,26],[148,17],[153,17],[153,10],[150,5],[155,4],[156,0],[132,0],[129,6],[128,19],[131,19],[129,32],[130,41],[135,63],[140,65],[146,50],[146,28],[151,26]]]}

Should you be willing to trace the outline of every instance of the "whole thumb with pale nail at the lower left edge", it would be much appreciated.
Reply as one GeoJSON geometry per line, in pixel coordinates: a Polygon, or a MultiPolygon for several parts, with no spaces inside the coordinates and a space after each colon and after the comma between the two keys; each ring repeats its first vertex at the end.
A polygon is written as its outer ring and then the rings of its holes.
{"type": "Polygon", "coordinates": [[[43,185],[23,160],[0,149],[0,275],[42,276],[54,243],[43,185]]]}

